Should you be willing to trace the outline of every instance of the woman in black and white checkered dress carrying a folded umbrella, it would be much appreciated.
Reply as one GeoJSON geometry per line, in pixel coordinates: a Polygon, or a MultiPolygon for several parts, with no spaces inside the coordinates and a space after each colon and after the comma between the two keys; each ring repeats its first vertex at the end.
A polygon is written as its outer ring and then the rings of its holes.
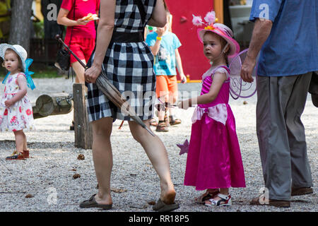
{"type": "Polygon", "coordinates": [[[90,68],[85,73],[88,83],[88,114],[93,126],[93,160],[98,179],[98,195],[90,197],[80,205],[82,208],[112,208],[110,194],[110,174],[112,171],[112,147],[110,134],[113,119],[129,120],[131,134],[141,143],[160,178],[160,200],[154,210],[173,210],[175,189],[170,177],[170,166],[167,151],[158,136],[151,136],[129,117],[124,117],[120,109],[115,107],[95,84],[96,78],[105,70],[107,78],[114,84],[129,104],[150,129],[152,118],[151,96],[155,97],[155,74],[153,73],[153,55],[143,42],[143,28],[146,23],[163,27],[166,23],[163,0],[141,0],[144,9],[139,11],[137,1],[140,0],[104,0],[100,2],[100,20],[98,36],[90,68]],[[143,15],[143,16],[142,16],[143,15]],[[138,35],[139,34],[139,35],[138,35]],[[126,42],[120,40],[141,40],[126,42]],[[149,95],[151,93],[151,95],[149,95]]]}

